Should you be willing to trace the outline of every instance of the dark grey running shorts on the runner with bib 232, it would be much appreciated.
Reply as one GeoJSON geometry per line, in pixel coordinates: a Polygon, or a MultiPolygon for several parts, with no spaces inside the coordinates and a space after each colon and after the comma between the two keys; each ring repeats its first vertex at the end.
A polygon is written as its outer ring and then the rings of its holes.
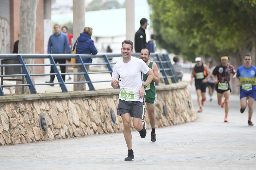
{"type": "Polygon", "coordinates": [[[145,118],[145,103],[144,102],[130,102],[119,99],[119,104],[117,108],[117,114],[130,113],[132,117],[145,118]]]}

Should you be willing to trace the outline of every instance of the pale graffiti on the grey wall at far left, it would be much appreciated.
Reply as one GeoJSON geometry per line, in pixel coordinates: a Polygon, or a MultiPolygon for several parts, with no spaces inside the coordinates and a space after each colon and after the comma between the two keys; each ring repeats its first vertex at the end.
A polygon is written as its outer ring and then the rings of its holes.
{"type": "Polygon", "coordinates": [[[0,53],[7,53],[10,44],[10,24],[7,19],[0,17],[0,53]]]}

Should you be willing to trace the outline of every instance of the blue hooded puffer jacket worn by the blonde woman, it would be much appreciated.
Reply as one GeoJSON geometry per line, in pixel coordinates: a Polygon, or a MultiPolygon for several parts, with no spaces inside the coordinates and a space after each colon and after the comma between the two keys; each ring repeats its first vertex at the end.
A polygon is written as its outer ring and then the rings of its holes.
{"type": "MultiPolygon", "coordinates": [[[[91,36],[85,32],[81,33],[77,41],[74,44],[73,51],[77,44],[77,54],[97,54],[98,50],[96,49],[91,36]]],[[[82,58],[84,63],[92,63],[92,58],[82,58]]],[[[77,63],[79,63],[77,59],[77,63]]]]}

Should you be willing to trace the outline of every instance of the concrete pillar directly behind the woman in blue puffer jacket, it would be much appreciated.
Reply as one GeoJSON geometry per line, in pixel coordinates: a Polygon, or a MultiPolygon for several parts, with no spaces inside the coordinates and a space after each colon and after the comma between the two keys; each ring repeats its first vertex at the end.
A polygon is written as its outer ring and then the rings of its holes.
{"type": "MultiPolygon", "coordinates": [[[[74,42],[83,32],[85,27],[85,0],[73,0],[73,39],[74,42]]],[[[74,68],[77,72],[77,68],[74,68]]],[[[74,75],[74,81],[77,81],[77,75],[74,75]]],[[[74,91],[77,91],[77,84],[74,84],[74,91]]]]}

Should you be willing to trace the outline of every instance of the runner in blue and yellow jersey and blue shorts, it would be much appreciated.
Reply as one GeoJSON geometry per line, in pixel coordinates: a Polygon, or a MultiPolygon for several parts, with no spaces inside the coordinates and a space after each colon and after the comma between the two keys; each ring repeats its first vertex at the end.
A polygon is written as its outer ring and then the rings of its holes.
{"type": "Polygon", "coordinates": [[[237,87],[240,87],[240,103],[241,113],[247,107],[247,100],[249,100],[249,119],[248,125],[253,126],[252,114],[253,103],[256,100],[256,67],[252,65],[252,57],[250,55],[244,56],[244,65],[237,70],[237,76],[235,78],[237,87]],[[240,81],[239,81],[240,78],[240,81]]]}

